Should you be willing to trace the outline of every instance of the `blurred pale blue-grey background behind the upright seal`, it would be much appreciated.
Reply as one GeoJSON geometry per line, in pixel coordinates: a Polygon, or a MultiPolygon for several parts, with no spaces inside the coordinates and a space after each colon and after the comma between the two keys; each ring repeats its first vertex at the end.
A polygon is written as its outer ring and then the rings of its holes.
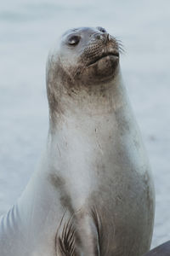
{"type": "Polygon", "coordinates": [[[155,178],[155,247],[170,239],[169,0],[1,1],[0,214],[25,188],[45,146],[48,49],[77,26],[103,26],[125,46],[122,75],[155,178]]]}

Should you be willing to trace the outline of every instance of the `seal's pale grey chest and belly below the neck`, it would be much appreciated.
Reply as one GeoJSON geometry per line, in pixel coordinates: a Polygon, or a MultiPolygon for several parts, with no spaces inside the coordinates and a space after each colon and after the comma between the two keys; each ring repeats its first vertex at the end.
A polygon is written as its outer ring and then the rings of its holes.
{"type": "Polygon", "coordinates": [[[153,228],[154,192],[138,132],[119,129],[114,114],[91,121],[91,127],[87,119],[80,127],[75,123],[67,123],[54,141],[57,172],[52,180],[58,205],[68,212],[65,223],[75,218],[80,255],[96,255],[98,232],[101,255],[145,253],[153,228]],[[95,232],[96,227],[100,230],[95,232]]]}

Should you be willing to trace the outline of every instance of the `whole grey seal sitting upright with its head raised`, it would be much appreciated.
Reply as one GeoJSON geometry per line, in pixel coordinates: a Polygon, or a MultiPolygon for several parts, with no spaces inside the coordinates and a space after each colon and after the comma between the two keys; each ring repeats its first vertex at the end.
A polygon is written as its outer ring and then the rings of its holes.
{"type": "Polygon", "coordinates": [[[71,29],[48,55],[48,143],[1,219],[1,256],[139,256],[155,194],[120,68],[102,27],[71,29]]]}

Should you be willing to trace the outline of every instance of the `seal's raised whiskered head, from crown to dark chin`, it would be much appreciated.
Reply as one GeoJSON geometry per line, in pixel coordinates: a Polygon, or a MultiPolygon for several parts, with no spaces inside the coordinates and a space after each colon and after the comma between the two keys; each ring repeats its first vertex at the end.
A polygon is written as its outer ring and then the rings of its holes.
{"type": "Polygon", "coordinates": [[[119,44],[102,27],[71,29],[61,37],[53,61],[69,84],[99,84],[116,75],[119,44]]]}

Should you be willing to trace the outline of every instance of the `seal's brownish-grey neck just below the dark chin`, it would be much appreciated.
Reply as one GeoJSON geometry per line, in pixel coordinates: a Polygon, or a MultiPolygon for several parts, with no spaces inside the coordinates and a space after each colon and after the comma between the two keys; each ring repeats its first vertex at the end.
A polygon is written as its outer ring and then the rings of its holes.
{"type": "Polygon", "coordinates": [[[126,93],[120,72],[113,80],[104,84],[75,86],[70,90],[68,90],[68,86],[63,87],[62,95],[57,96],[53,103],[49,101],[50,130],[55,130],[59,123],[72,116],[80,119],[83,116],[110,114],[126,102],[126,93]]]}

